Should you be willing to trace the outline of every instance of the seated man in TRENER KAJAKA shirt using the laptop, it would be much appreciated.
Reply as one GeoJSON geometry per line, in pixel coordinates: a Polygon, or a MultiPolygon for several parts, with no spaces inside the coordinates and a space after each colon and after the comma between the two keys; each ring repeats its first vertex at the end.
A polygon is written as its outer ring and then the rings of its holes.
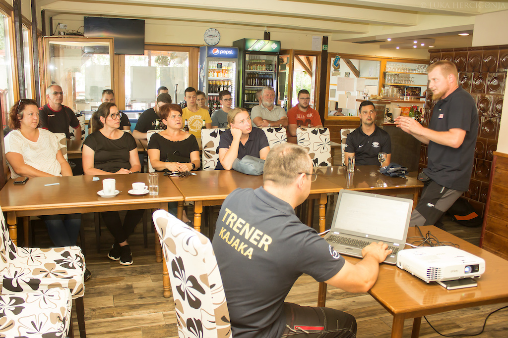
{"type": "Polygon", "coordinates": [[[352,315],[284,303],[304,273],[345,291],[366,292],[391,252],[387,244],[372,243],[353,265],[303,224],[294,209],[308,197],[312,177],[305,148],[277,145],[266,158],[264,185],[233,191],[220,209],[212,245],[235,338],[356,335],[352,315]]]}

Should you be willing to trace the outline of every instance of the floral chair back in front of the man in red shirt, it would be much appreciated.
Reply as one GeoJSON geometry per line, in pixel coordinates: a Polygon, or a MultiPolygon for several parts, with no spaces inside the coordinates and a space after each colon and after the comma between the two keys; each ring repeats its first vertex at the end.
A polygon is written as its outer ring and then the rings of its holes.
{"type": "Polygon", "coordinates": [[[332,147],[328,128],[299,127],[296,130],[297,142],[307,148],[314,167],[332,165],[332,147]]]}

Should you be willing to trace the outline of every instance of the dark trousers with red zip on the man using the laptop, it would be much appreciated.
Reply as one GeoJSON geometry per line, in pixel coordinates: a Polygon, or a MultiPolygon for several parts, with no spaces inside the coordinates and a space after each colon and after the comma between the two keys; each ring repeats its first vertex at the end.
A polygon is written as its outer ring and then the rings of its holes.
{"type": "Polygon", "coordinates": [[[356,337],[356,320],[350,314],[329,308],[284,303],[286,327],[282,337],[356,337]]]}

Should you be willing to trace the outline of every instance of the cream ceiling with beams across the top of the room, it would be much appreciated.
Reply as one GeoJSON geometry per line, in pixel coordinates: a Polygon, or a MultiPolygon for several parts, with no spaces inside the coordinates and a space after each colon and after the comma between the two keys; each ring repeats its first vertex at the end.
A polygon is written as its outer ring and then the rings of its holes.
{"type": "Polygon", "coordinates": [[[427,39],[425,48],[430,43],[469,47],[471,36],[457,34],[472,32],[475,16],[508,10],[506,0],[40,0],[37,5],[46,17],[104,15],[278,28],[328,35],[337,42],[380,40],[376,44],[389,49],[412,48],[418,39],[427,39]]]}

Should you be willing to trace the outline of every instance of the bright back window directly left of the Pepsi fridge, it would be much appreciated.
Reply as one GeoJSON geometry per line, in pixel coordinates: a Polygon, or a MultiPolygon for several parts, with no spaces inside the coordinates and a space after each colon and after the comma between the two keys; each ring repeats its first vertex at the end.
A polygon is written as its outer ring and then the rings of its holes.
{"type": "Polygon", "coordinates": [[[125,55],[125,110],[153,107],[157,88],[161,86],[169,89],[174,103],[183,101],[188,66],[188,52],[145,51],[145,55],[125,55]]]}

